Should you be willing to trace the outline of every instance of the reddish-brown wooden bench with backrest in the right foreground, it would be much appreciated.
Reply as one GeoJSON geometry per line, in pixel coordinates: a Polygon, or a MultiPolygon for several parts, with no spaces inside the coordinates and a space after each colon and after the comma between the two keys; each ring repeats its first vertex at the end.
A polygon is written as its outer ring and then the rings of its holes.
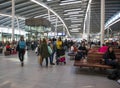
{"type": "Polygon", "coordinates": [[[88,54],[88,59],[86,62],[84,62],[83,60],[75,61],[74,66],[100,68],[100,69],[112,69],[112,66],[105,65],[102,59],[103,59],[103,54],[91,53],[91,54],[88,54]]]}

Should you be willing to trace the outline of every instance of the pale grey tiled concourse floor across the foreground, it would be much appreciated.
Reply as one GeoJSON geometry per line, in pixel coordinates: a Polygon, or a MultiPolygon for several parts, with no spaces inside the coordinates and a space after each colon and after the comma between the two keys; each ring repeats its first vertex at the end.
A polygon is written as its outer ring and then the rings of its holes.
{"type": "Polygon", "coordinates": [[[66,65],[41,67],[33,51],[26,52],[25,65],[17,55],[0,55],[0,88],[120,88],[106,72],[78,68],[67,58],[66,65]]]}

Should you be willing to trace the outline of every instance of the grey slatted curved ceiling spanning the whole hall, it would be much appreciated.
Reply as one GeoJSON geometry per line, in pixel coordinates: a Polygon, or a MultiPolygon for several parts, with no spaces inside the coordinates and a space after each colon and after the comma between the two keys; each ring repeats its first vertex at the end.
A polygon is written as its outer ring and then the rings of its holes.
{"type": "MultiPolygon", "coordinates": [[[[11,14],[12,0],[0,0],[0,14],[11,14]]],[[[86,9],[89,0],[37,0],[45,3],[52,8],[66,23],[70,34],[78,36],[83,33],[83,25],[86,9]]],[[[100,31],[100,1],[92,0],[91,4],[91,21],[90,31],[96,33],[100,31]]],[[[106,12],[105,22],[110,19],[115,13],[120,11],[120,0],[105,0],[106,12]]],[[[43,17],[48,19],[48,10],[41,7],[30,0],[15,0],[15,15],[24,18],[43,17]]],[[[56,16],[50,13],[51,24],[55,27],[56,16]]],[[[25,21],[19,19],[20,28],[25,29],[25,21]]],[[[0,26],[11,27],[11,18],[0,16],[0,26]]],[[[17,27],[17,20],[15,20],[17,27]]],[[[63,25],[58,20],[58,31],[63,31],[63,25]]]]}

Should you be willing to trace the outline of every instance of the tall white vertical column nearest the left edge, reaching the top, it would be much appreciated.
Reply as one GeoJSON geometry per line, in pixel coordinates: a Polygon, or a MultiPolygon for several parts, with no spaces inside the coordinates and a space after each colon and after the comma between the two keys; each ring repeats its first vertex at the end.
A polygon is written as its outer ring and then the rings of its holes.
{"type": "Polygon", "coordinates": [[[15,1],[12,0],[12,41],[14,40],[15,1]]]}

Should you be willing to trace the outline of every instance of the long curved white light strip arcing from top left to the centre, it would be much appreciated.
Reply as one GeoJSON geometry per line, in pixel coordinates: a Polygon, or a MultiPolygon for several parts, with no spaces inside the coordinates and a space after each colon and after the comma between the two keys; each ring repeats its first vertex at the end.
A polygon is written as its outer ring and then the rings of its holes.
{"type": "Polygon", "coordinates": [[[48,9],[48,10],[51,11],[54,15],[56,15],[56,16],[60,19],[60,21],[63,23],[64,27],[66,28],[67,34],[68,34],[69,36],[71,36],[70,33],[69,33],[69,31],[68,31],[68,28],[67,28],[65,22],[63,21],[63,19],[62,19],[55,11],[53,11],[51,8],[49,8],[47,5],[45,5],[45,4],[42,3],[42,2],[38,2],[38,1],[36,1],[36,0],[31,0],[31,1],[34,2],[34,3],[36,3],[36,4],[38,4],[38,5],[40,5],[40,6],[42,6],[42,7],[44,7],[44,8],[46,8],[46,9],[48,9]]]}

